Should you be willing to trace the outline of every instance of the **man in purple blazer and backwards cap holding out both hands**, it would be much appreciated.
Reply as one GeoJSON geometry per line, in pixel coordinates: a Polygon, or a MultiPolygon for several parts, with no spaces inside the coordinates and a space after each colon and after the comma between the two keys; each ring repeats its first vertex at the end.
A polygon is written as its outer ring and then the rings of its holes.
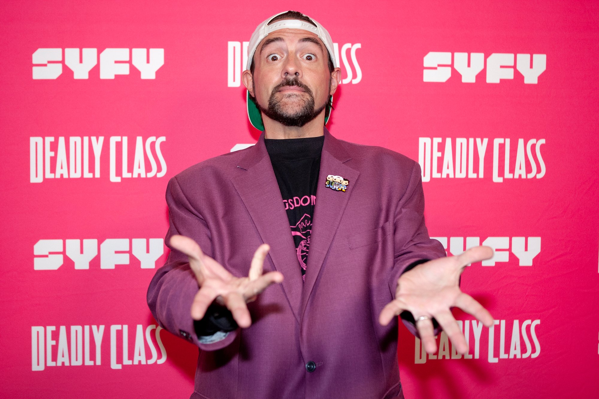
{"type": "Polygon", "coordinates": [[[396,316],[427,352],[442,327],[464,353],[450,307],[492,324],[459,289],[492,250],[447,258],[424,224],[419,165],[325,128],[341,72],[320,24],[277,14],[248,50],[248,114],[263,132],[168,183],[152,314],[200,349],[192,398],[402,398],[396,316]]]}

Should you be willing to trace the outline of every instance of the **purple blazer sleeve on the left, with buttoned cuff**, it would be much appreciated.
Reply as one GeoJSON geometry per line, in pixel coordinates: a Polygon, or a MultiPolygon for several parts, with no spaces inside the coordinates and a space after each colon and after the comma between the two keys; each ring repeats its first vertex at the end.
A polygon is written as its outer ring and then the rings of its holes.
{"type": "Polygon", "coordinates": [[[189,267],[187,255],[171,247],[170,238],[174,234],[190,237],[199,244],[202,251],[213,256],[210,230],[202,217],[183,194],[177,178],[173,177],[167,186],[169,228],[165,244],[171,250],[167,262],[156,271],[147,291],[147,303],[158,324],[170,333],[190,341],[202,350],[216,350],[230,344],[238,334],[234,331],[220,332],[203,339],[196,334],[196,325],[191,317],[191,304],[198,292],[198,281],[189,267]]]}

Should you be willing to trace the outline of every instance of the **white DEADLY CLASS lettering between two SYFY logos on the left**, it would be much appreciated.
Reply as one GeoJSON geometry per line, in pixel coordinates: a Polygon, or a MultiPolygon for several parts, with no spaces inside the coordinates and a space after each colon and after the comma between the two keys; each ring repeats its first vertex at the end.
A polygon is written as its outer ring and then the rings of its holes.
{"type": "MultiPolygon", "coordinates": [[[[54,137],[29,137],[29,182],[41,183],[46,179],[75,179],[83,176],[100,177],[100,156],[104,145],[104,136],[91,137],[93,150],[93,174],[90,172],[91,164],[89,157],[89,140],[87,136],[71,136],[69,140],[69,156],[66,157],[65,137],[58,138],[58,146],[53,147],[54,137]],[[56,149],[56,152],[53,151],[56,149]],[[56,159],[54,158],[56,155],[56,159]]],[[[160,150],[160,144],[166,141],[164,136],[148,137],[144,140],[141,136],[135,138],[135,155],[133,164],[128,158],[128,137],[110,136],[110,181],[120,182],[121,177],[162,177],[167,173],[167,162],[160,150]],[[117,144],[119,143],[119,144],[117,144]],[[117,147],[122,158],[120,174],[117,173],[116,159],[117,147]],[[156,159],[152,149],[158,158],[161,170],[158,171],[156,159]],[[146,172],[146,158],[150,162],[150,170],[146,172]],[[131,168],[131,171],[129,171],[131,168]]]]}

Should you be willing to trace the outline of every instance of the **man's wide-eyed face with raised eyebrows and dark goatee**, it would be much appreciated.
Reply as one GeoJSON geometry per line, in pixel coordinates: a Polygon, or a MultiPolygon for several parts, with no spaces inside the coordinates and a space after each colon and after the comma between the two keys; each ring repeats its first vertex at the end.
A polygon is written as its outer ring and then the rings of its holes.
{"type": "Polygon", "coordinates": [[[244,84],[262,113],[286,126],[303,126],[313,120],[337,89],[326,47],[309,31],[271,32],[258,44],[254,65],[253,76],[244,72],[244,84]]]}

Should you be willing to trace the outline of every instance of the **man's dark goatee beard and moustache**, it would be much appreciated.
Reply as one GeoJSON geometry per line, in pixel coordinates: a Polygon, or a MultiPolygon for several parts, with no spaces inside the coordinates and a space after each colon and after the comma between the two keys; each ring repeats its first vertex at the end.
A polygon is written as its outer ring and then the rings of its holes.
{"type": "MultiPolygon", "coordinates": [[[[253,84],[253,81],[252,81],[253,84]]],[[[256,89],[254,87],[254,93],[256,89]]],[[[299,96],[301,94],[295,93],[294,95],[299,96]]],[[[322,104],[322,107],[314,109],[314,95],[310,87],[306,86],[304,83],[299,81],[299,78],[296,76],[294,78],[284,80],[281,83],[277,84],[273,88],[271,92],[270,98],[268,98],[268,108],[262,108],[258,101],[254,98],[254,102],[256,103],[256,107],[266,116],[270,117],[270,119],[276,120],[285,126],[304,126],[306,123],[310,122],[325,109],[326,103],[322,104]],[[294,113],[288,113],[284,109],[284,106],[281,104],[281,101],[277,98],[276,94],[279,90],[284,86],[298,86],[305,90],[305,93],[308,95],[308,99],[304,101],[304,104],[298,111],[294,113]]]]}

